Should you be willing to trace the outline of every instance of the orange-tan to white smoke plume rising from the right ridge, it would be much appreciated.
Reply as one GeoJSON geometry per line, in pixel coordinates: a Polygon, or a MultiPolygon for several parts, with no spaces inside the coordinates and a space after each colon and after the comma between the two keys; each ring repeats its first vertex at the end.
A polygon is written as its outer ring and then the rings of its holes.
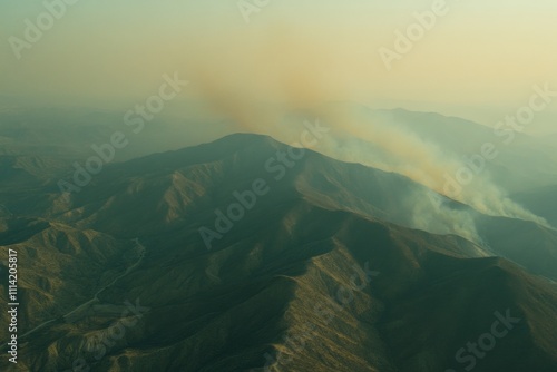
{"type": "MultiPolygon", "coordinates": [[[[224,47],[231,48],[231,56],[234,55],[231,59],[215,58],[207,62],[205,58],[203,63],[189,67],[199,96],[232,121],[236,131],[265,134],[290,144],[303,128],[299,118],[319,118],[333,130],[315,150],[340,160],[399,173],[439,194],[443,194],[444,175],[463,166],[456,154],[441,150],[395,123],[370,119],[361,115],[358,105],[346,104],[361,90],[361,81],[352,85],[356,78],[351,74],[362,71],[350,70],[351,63],[334,56],[325,45],[281,28],[257,42],[251,41],[242,45],[232,41],[224,47]]],[[[362,79],[367,76],[363,72],[362,79]]],[[[431,204],[428,208],[418,200],[431,198],[413,197],[416,227],[479,241],[471,216],[441,205],[431,204]]],[[[510,200],[490,180],[488,172],[477,175],[453,198],[483,214],[548,226],[544,218],[510,200]]]]}

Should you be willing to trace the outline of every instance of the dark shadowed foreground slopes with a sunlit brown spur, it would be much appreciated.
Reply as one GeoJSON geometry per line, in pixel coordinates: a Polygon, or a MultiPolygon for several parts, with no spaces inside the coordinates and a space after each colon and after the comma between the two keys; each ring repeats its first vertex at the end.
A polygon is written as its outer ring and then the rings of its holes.
{"type": "Polygon", "coordinates": [[[471,322],[469,331],[480,332],[495,311],[511,307],[524,326],[485,365],[507,368],[520,358],[518,365],[555,368],[557,340],[546,332],[556,326],[555,285],[500,260],[459,258],[451,252],[469,243],[458,238],[303,200],[270,212],[274,217],[247,217],[258,234],[233,234],[233,244],[214,252],[149,241],[146,260],[106,288],[96,307],[35,333],[18,365],[62,370],[82,355],[92,371],[247,371],[272,355],[293,371],[431,371],[467,341],[468,333],[451,330],[471,322]],[[97,361],[88,340],[110,332],[123,298],[134,297],[148,313],[97,361]],[[452,313],[471,307],[468,316],[452,313]],[[434,330],[433,337],[416,337],[434,330]],[[540,358],[524,360],[515,343],[540,358]]]}

